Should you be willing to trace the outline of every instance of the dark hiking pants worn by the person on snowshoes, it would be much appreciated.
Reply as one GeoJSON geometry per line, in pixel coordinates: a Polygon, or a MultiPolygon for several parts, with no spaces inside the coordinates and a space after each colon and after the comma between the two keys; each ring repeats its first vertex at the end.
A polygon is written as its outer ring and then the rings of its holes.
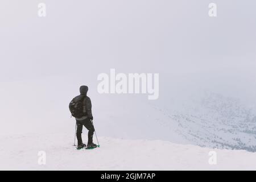
{"type": "Polygon", "coordinates": [[[92,125],[92,122],[89,118],[86,118],[81,121],[76,121],[77,129],[76,129],[76,138],[77,138],[77,145],[82,144],[82,126],[85,126],[88,131],[88,144],[92,144],[93,142],[93,133],[94,133],[94,127],[92,125]]]}

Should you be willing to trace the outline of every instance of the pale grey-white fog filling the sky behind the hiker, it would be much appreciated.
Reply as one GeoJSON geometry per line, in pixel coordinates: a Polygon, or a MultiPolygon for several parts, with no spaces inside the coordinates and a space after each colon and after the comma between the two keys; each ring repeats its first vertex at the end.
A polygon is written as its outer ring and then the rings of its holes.
{"type": "Polygon", "coordinates": [[[68,104],[80,85],[89,86],[95,122],[126,112],[119,106],[128,101],[140,108],[145,95],[97,92],[97,76],[111,68],[159,73],[159,99],[150,101],[159,106],[198,90],[254,106],[256,2],[214,0],[216,18],[210,2],[2,0],[0,133],[73,132],[68,104]]]}

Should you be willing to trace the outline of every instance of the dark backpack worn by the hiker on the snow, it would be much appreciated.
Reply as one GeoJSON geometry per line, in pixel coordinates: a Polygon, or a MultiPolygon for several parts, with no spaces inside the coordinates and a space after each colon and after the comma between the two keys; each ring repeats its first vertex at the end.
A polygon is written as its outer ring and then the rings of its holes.
{"type": "Polygon", "coordinates": [[[77,96],[72,99],[72,101],[69,103],[69,110],[71,112],[71,115],[75,118],[81,118],[85,115],[83,112],[83,101],[85,97],[77,96]]]}

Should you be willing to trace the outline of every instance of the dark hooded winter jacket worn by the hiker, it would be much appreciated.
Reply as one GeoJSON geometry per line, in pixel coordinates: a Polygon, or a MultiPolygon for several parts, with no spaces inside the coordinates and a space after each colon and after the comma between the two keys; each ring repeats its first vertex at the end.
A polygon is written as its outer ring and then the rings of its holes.
{"type": "Polygon", "coordinates": [[[77,97],[83,97],[83,112],[84,116],[81,118],[76,118],[77,121],[84,120],[86,118],[93,119],[92,115],[92,102],[90,101],[90,97],[87,96],[88,86],[81,86],[80,87],[80,95],[77,97]]]}

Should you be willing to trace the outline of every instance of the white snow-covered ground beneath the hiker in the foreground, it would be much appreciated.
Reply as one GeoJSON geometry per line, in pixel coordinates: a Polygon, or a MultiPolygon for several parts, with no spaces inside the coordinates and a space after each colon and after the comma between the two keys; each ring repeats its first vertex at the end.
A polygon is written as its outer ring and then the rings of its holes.
{"type": "MultiPolygon", "coordinates": [[[[85,137],[85,133],[83,137],[85,137]]],[[[100,148],[76,150],[72,134],[15,135],[0,139],[0,169],[14,170],[224,170],[256,169],[256,153],[216,149],[217,164],[209,164],[211,148],[162,140],[99,137],[100,148]],[[39,165],[39,151],[46,164],[39,165]]],[[[96,141],[96,139],[94,138],[96,141]]],[[[84,138],[86,141],[86,138],[84,138]]]]}

